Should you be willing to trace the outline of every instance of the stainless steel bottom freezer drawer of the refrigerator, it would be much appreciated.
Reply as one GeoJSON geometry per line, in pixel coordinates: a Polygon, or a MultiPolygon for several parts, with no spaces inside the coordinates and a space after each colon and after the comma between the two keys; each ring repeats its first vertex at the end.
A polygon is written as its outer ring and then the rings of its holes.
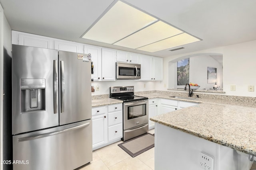
{"type": "Polygon", "coordinates": [[[14,170],[73,170],[92,161],[92,120],[13,136],[14,170]]]}

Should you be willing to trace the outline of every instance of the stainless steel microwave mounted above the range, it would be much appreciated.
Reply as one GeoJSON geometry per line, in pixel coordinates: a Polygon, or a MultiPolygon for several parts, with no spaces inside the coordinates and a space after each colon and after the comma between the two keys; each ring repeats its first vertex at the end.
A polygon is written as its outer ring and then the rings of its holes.
{"type": "Polygon", "coordinates": [[[140,64],[116,62],[116,79],[140,79],[140,64]]]}

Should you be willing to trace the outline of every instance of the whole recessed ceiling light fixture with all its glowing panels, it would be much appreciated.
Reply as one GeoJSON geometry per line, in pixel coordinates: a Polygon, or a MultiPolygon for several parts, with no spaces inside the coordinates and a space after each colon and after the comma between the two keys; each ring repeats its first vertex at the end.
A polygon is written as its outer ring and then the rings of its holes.
{"type": "Polygon", "coordinates": [[[152,53],[201,41],[126,2],[113,4],[82,38],[152,53]]]}

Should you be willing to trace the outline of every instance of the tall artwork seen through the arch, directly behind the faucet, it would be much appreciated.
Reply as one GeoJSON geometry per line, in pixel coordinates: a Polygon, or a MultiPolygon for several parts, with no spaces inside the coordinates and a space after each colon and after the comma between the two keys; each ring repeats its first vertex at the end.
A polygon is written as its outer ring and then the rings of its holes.
{"type": "Polygon", "coordinates": [[[177,62],[177,80],[178,85],[189,83],[189,58],[177,62]]]}

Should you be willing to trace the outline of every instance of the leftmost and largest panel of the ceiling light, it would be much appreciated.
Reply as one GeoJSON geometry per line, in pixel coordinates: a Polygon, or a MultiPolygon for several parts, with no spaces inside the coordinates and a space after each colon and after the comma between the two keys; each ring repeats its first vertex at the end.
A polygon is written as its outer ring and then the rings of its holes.
{"type": "Polygon", "coordinates": [[[112,44],[155,21],[156,18],[118,1],[83,38],[112,44]]]}

